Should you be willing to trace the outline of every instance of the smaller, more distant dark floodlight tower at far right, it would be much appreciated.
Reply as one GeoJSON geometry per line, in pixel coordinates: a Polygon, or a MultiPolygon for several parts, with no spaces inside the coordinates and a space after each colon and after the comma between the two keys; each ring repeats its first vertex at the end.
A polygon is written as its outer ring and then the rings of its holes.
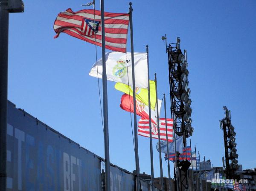
{"type": "Polygon", "coordinates": [[[235,179],[235,171],[238,169],[238,154],[236,154],[236,132],[231,124],[230,110],[223,106],[225,110],[225,117],[220,120],[220,127],[224,135],[224,148],[225,148],[225,163],[226,163],[226,176],[227,179],[235,179]]]}

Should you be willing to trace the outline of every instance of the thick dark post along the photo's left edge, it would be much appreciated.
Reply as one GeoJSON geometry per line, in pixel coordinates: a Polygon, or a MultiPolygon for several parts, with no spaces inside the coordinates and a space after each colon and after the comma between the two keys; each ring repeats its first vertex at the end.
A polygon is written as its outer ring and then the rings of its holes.
{"type": "Polygon", "coordinates": [[[6,130],[8,86],[8,32],[7,1],[0,0],[0,190],[6,191],[6,130]]]}

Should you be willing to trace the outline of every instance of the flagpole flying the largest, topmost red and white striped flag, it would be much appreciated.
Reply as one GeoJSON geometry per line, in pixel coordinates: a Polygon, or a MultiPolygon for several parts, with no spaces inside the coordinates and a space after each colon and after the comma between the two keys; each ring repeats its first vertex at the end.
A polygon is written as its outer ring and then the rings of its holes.
{"type": "MultiPolygon", "coordinates": [[[[132,3],[129,3],[130,14],[130,33],[131,33],[131,70],[132,70],[132,91],[134,102],[134,144],[135,144],[135,163],[136,163],[136,191],[140,191],[140,167],[138,152],[138,130],[137,130],[137,114],[136,114],[136,91],[135,91],[135,75],[134,75],[134,46],[133,46],[133,26],[132,26],[132,3]]],[[[149,120],[150,121],[150,120],[149,120]]]]}

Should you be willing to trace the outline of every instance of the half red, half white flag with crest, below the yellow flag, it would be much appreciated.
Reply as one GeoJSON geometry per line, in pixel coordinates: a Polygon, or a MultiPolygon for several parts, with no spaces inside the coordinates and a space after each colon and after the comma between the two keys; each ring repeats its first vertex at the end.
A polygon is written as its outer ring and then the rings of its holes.
{"type": "MultiPolygon", "coordinates": [[[[160,114],[161,110],[161,103],[162,100],[158,100],[158,113],[160,114]]],[[[128,94],[123,94],[121,97],[121,104],[120,108],[122,108],[125,111],[128,112],[134,112],[134,102],[133,102],[133,97],[129,96],[128,94]]],[[[136,100],[136,113],[140,117],[143,117],[145,119],[149,120],[149,115],[148,115],[148,106],[145,105],[145,103],[140,102],[139,100],[136,100]]],[[[157,111],[154,111],[151,109],[151,122],[157,124],[157,111]]]]}

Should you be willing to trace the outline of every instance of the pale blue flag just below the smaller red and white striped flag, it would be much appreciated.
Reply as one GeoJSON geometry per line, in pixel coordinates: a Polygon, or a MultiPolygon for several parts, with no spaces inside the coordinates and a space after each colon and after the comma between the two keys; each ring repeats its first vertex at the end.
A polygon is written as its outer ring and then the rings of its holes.
{"type": "MultiPolygon", "coordinates": [[[[167,154],[167,142],[161,141],[160,144],[161,144],[161,152],[167,154]]],[[[169,154],[175,154],[175,142],[173,141],[172,143],[168,143],[168,147],[169,147],[169,154]]],[[[157,151],[159,152],[159,144],[158,143],[157,143],[157,151]]],[[[180,152],[180,153],[184,152],[183,136],[176,138],[176,151],[180,152]]],[[[190,149],[190,151],[191,151],[191,149],[190,149]]]]}

